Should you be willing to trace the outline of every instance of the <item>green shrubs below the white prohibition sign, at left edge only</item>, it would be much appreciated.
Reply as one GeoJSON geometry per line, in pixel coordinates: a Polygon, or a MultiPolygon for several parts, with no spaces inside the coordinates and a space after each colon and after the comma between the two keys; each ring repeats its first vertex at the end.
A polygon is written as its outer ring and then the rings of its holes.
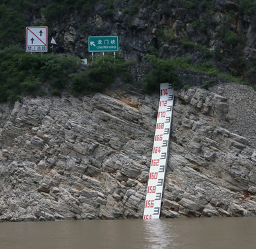
{"type": "Polygon", "coordinates": [[[19,100],[23,95],[42,95],[46,93],[44,88],[61,91],[81,62],[71,56],[41,56],[10,46],[0,50],[0,65],[0,102],[5,102],[19,100]]]}

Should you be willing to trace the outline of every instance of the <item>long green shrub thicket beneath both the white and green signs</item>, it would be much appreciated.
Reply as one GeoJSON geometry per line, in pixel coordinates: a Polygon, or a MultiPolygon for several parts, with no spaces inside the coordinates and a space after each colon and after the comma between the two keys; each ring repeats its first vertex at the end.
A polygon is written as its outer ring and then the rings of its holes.
{"type": "Polygon", "coordinates": [[[24,95],[60,95],[71,86],[73,93],[100,91],[120,77],[122,82],[133,81],[127,62],[116,55],[98,56],[85,71],[77,57],[61,57],[51,53],[25,53],[18,46],[0,50],[0,102],[19,100],[24,95]]]}

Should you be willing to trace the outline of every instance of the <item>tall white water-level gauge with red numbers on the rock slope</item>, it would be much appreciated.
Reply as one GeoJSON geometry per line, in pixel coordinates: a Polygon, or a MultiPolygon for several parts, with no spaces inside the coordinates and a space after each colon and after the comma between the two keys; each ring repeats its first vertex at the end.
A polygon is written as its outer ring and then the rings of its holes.
{"type": "Polygon", "coordinates": [[[147,183],[147,196],[145,200],[143,219],[158,219],[160,216],[163,183],[165,180],[165,169],[167,167],[169,138],[171,132],[173,102],[173,84],[162,83],[160,85],[160,101],[158,105],[156,131],[149,170],[149,181],[147,183]]]}

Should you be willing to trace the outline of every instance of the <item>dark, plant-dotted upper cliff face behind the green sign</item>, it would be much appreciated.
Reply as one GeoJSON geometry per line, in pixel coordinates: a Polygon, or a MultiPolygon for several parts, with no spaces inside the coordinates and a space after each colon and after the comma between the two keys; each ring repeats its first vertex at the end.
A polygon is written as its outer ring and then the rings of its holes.
{"type": "MultiPolygon", "coordinates": [[[[48,20],[57,53],[89,57],[88,37],[118,35],[120,53],[140,61],[145,54],[188,56],[194,64],[212,62],[222,72],[254,84],[256,28],[254,15],[238,0],[114,1],[97,3],[48,20]]],[[[255,0],[251,1],[254,6],[255,0]]],[[[35,17],[34,17],[35,18],[35,17]]],[[[43,22],[35,18],[33,23],[43,22]]]]}

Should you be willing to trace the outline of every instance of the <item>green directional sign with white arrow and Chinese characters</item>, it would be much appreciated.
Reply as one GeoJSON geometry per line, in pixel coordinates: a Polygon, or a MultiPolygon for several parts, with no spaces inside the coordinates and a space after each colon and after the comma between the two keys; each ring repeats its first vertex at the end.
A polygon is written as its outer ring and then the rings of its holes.
{"type": "Polygon", "coordinates": [[[89,52],[118,52],[118,36],[89,37],[89,52]]]}

